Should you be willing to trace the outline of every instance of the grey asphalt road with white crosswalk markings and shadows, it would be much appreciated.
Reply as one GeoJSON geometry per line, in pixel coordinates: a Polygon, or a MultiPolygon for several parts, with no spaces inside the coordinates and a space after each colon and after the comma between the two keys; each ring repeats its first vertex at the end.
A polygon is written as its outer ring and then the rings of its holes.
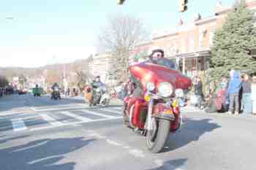
{"type": "Polygon", "coordinates": [[[90,109],[79,98],[0,98],[0,169],[256,169],[256,117],[184,108],[181,132],[151,154],[145,139],[123,125],[120,109],[90,109]]]}

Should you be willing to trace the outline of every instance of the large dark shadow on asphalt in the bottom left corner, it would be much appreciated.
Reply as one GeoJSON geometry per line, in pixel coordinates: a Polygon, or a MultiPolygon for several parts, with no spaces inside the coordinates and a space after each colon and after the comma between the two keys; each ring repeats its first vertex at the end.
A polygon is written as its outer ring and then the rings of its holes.
{"type": "Polygon", "coordinates": [[[41,139],[0,150],[0,165],[4,170],[72,170],[75,162],[59,163],[69,152],[79,150],[95,139],[83,137],[41,139]]]}

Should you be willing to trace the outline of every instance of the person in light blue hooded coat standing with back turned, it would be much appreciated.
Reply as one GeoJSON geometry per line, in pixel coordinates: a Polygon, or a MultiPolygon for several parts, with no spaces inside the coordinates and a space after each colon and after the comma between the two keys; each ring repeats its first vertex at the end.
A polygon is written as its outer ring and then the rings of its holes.
{"type": "Polygon", "coordinates": [[[230,99],[229,114],[239,114],[239,91],[241,90],[241,78],[237,71],[230,71],[230,82],[227,93],[230,99]]]}

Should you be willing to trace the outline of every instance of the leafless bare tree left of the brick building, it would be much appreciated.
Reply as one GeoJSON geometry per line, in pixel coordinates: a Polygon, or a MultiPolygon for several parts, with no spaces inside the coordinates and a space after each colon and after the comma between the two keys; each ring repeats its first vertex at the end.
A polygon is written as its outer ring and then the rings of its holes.
{"type": "Polygon", "coordinates": [[[147,38],[148,31],[139,18],[129,15],[110,16],[107,26],[98,37],[99,51],[112,53],[110,63],[113,66],[110,72],[120,72],[125,77],[129,65],[129,50],[147,38]]]}

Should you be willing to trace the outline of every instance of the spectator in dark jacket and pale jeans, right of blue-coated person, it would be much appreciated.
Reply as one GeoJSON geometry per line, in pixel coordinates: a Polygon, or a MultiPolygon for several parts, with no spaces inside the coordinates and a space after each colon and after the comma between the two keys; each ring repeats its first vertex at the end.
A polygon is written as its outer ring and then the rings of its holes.
{"type": "Polygon", "coordinates": [[[244,114],[252,114],[252,82],[247,74],[242,76],[242,107],[244,114]]]}

